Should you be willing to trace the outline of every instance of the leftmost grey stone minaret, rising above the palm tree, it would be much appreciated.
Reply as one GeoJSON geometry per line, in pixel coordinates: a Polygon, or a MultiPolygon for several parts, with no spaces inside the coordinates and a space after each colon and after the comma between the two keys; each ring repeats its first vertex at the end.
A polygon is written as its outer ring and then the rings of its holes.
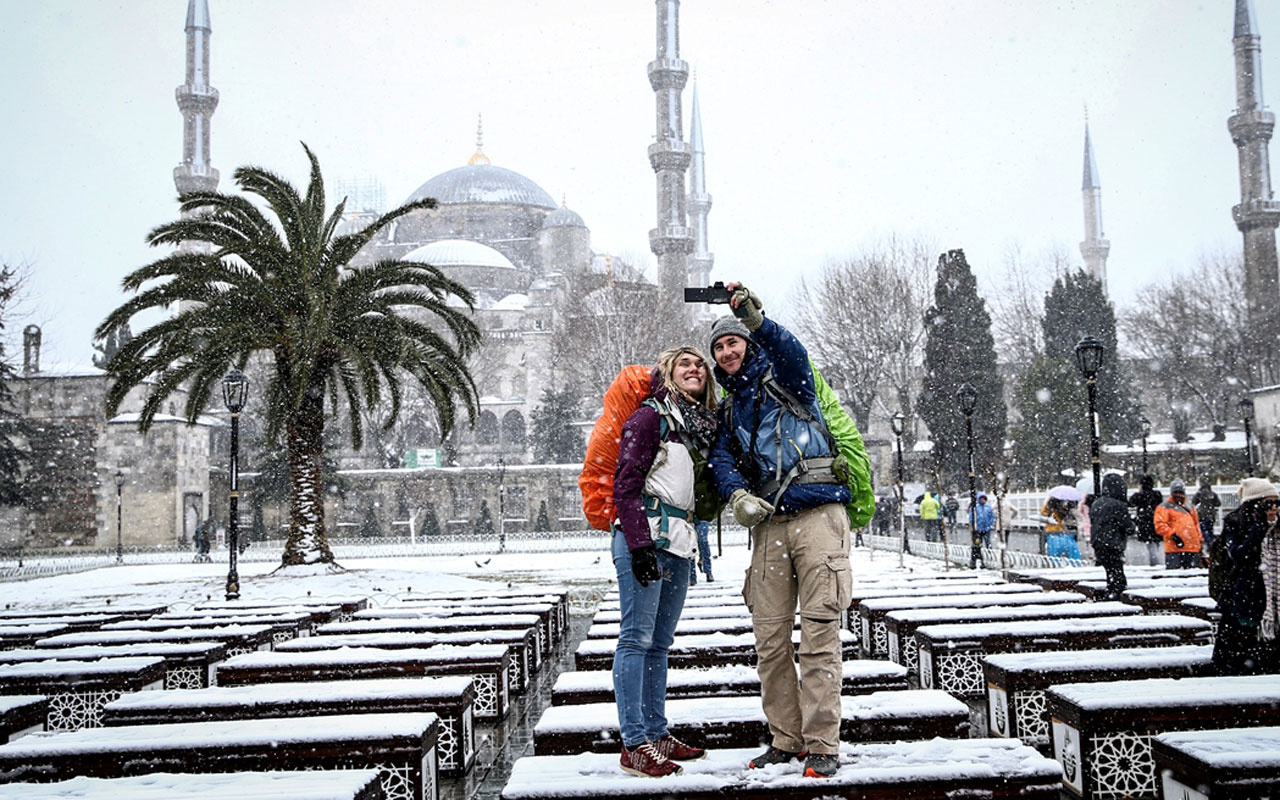
{"type": "Polygon", "coordinates": [[[209,84],[209,1],[187,0],[187,82],[174,95],[182,111],[182,164],[173,170],[178,193],[212,192],[218,170],[209,155],[209,120],[218,108],[218,90],[209,84]]]}

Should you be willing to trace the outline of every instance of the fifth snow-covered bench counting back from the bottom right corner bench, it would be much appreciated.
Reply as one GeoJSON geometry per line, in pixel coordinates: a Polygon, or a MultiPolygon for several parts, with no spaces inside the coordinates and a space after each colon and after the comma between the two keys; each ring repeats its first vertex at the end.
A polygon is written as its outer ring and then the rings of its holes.
{"type": "MultiPolygon", "coordinates": [[[[915,641],[916,628],[925,625],[959,625],[974,622],[1014,622],[1018,620],[1066,620],[1073,617],[1128,617],[1140,614],[1142,609],[1128,603],[1103,602],[1085,603],[1080,595],[1071,591],[1046,591],[1044,596],[1057,598],[1074,595],[1079,602],[1061,603],[1023,603],[1038,599],[1038,595],[1012,595],[1001,599],[998,605],[951,608],[900,608],[884,614],[884,628],[888,631],[888,658],[902,664],[911,675],[918,675],[920,650],[915,641]]],[[[957,598],[959,600],[959,598],[957,598]]]]}

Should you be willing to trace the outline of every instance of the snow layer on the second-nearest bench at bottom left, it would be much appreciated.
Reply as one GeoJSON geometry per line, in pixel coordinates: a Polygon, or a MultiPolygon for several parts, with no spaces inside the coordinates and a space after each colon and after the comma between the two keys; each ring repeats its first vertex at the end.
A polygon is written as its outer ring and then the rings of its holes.
{"type": "Polygon", "coordinates": [[[0,759],[76,756],[91,753],[206,751],[211,748],[276,748],[310,742],[369,745],[387,737],[420,736],[439,717],[430,712],[402,714],[332,714],[271,719],[168,722],[81,728],[51,736],[24,736],[0,745],[0,759]]]}

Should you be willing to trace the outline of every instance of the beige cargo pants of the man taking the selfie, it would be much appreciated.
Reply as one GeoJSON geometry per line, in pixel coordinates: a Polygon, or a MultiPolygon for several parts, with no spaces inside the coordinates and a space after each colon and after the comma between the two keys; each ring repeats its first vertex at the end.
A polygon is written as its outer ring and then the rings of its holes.
{"type": "Polygon", "coordinates": [[[762,522],[751,529],[751,548],[742,599],[773,746],[840,753],[840,617],[852,594],[845,507],[828,503],[762,522]],[[791,643],[797,600],[799,676],[791,643]]]}

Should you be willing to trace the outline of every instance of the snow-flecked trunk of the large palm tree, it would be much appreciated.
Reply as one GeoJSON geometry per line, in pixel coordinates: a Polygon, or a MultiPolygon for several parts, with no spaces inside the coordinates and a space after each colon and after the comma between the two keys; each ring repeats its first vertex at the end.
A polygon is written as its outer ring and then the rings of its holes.
{"type": "Polygon", "coordinates": [[[289,539],[285,567],[333,563],[324,526],[324,396],[316,393],[285,422],[289,443],[289,539]]]}

